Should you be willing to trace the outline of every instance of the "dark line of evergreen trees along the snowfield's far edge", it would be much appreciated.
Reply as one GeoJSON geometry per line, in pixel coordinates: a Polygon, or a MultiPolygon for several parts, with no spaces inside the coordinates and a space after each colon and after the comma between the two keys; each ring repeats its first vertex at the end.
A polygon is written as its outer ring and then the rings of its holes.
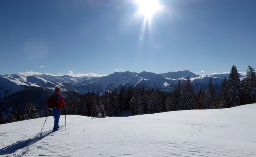
{"type": "MultiPolygon", "coordinates": [[[[212,78],[209,78],[207,90],[195,92],[191,79],[187,77],[183,84],[178,79],[172,92],[130,86],[126,89],[122,87],[119,92],[116,88],[108,90],[104,95],[86,93],[80,95],[76,101],[67,101],[67,106],[62,109],[61,114],[103,118],[187,109],[228,108],[251,103],[256,103],[256,72],[248,66],[246,77],[240,79],[237,67],[233,65],[229,77],[222,81],[219,93],[215,91],[212,78]]],[[[46,115],[47,109],[44,114],[37,115],[37,109],[30,103],[24,114],[20,111],[13,112],[6,122],[46,115]]],[[[0,123],[5,123],[2,115],[0,123]]]]}

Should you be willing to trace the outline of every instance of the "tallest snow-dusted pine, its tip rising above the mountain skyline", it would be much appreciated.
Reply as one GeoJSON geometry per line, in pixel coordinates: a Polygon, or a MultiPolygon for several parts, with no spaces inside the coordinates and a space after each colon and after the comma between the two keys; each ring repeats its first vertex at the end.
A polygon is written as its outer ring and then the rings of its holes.
{"type": "Polygon", "coordinates": [[[239,78],[239,73],[235,65],[232,66],[229,75],[229,107],[236,107],[241,105],[241,81],[239,78]]]}

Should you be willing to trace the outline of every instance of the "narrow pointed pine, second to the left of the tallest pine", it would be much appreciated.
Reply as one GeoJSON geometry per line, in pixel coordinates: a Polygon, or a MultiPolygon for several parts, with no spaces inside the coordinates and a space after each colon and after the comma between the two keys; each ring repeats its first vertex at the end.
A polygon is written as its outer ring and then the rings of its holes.
{"type": "Polygon", "coordinates": [[[206,106],[207,109],[215,109],[217,102],[215,88],[212,85],[212,78],[209,78],[209,84],[206,93],[206,106]]]}

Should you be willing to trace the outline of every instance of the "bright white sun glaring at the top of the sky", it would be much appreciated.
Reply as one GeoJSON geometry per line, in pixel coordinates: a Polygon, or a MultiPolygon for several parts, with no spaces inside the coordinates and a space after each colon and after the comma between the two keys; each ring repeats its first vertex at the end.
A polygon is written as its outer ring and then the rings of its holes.
{"type": "Polygon", "coordinates": [[[143,14],[147,19],[150,19],[156,11],[160,10],[158,0],[137,0],[137,4],[140,14],[143,14]]]}

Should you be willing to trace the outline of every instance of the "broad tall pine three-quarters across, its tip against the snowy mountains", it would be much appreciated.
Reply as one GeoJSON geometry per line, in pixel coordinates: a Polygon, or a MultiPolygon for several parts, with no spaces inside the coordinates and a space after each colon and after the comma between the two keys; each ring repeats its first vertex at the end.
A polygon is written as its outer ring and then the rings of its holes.
{"type": "Polygon", "coordinates": [[[190,78],[183,84],[183,109],[195,109],[195,91],[190,78]]]}

